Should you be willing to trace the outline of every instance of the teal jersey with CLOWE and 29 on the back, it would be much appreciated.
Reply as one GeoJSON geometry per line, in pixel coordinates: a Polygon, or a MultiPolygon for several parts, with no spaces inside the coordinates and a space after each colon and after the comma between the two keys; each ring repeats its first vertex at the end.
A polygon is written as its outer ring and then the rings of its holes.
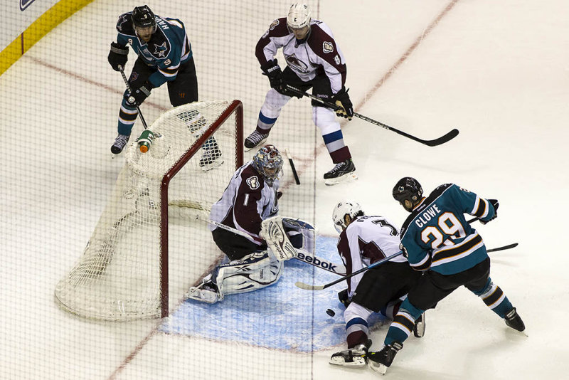
{"type": "Polygon", "coordinates": [[[485,260],[482,237],[464,213],[489,221],[494,206],[455,184],[444,184],[415,206],[401,228],[401,244],[415,270],[459,273],[485,260]]]}

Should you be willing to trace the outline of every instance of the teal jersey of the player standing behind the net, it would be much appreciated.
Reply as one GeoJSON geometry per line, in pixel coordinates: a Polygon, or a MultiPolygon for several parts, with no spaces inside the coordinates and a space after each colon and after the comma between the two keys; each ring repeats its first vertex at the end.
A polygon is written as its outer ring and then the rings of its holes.
{"type": "Polygon", "coordinates": [[[134,32],[132,12],[122,14],[117,22],[117,43],[132,46],[144,63],[157,68],[156,73],[150,75],[149,82],[154,87],[159,87],[176,79],[180,65],[192,57],[192,51],[184,23],[157,15],[155,19],[156,32],[150,41],[144,42],[134,32]]]}

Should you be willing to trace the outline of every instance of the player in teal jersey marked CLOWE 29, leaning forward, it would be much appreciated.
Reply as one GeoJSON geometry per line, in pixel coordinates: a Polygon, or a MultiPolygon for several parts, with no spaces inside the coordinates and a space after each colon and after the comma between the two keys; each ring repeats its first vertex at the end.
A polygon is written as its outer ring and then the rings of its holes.
{"type": "Polygon", "coordinates": [[[421,185],[411,177],[395,184],[393,198],[411,213],[401,228],[400,248],[411,267],[425,273],[401,304],[383,349],[368,354],[371,368],[385,374],[413,331],[415,319],[462,285],[482,298],[509,327],[523,331],[516,308],[492,283],[482,237],[464,218],[468,213],[486,224],[496,218],[498,201],[482,199],[455,184],[438,186],[425,198],[421,185]]]}

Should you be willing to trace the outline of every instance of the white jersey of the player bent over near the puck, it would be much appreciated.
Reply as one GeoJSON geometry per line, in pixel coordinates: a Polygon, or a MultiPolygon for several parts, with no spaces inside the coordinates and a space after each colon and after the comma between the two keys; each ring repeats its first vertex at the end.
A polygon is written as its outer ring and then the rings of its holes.
{"type": "MultiPolygon", "coordinates": [[[[346,266],[346,275],[400,252],[399,231],[383,216],[358,216],[338,238],[338,253],[346,266]]],[[[406,263],[403,255],[392,262],[406,263]]],[[[349,279],[348,292],[352,296],[366,272],[349,279]]]]}

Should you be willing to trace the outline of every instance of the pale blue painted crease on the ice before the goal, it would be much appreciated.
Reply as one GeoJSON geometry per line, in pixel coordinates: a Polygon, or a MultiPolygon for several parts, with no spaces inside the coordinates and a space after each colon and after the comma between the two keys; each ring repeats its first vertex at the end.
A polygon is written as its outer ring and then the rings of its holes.
{"type": "MultiPolygon", "coordinates": [[[[319,236],[316,255],[341,263],[336,238],[319,236]]],[[[275,285],[228,295],[213,305],[186,300],[161,324],[160,330],[299,352],[329,349],[346,341],[344,306],[337,296],[346,283],[320,291],[302,290],[294,283],[324,285],[337,278],[334,273],[299,260],[288,260],[275,285]],[[326,314],[327,309],[334,310],[336,315],[330,317],[326,314]]],[[[374,316],[373,322],[381,322],[381,317],[374,316]]]]}

